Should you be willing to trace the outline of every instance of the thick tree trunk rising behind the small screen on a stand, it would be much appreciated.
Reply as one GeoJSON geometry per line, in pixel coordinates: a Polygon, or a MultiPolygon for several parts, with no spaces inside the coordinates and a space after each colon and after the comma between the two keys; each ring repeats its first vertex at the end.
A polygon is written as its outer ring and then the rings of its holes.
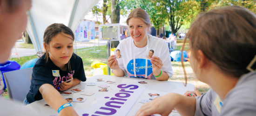
{"type": "MultiPolygon", "coordinates": [[[[116,0],[111,0],[111,22],[119,23],[120,21],[120,7],[116,3],[116,0]]],[[[120,30],[117,30],[117,32],[120,32],[120,30]]],[[[116,48],[119,45],[119,41],[111,41],[111,47],[116,48]]]]}

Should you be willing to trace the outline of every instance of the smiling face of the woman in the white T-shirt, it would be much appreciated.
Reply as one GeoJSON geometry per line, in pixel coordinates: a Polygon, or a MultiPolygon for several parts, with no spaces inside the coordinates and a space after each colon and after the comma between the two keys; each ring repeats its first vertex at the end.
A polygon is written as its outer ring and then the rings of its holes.
{"type": "Polygon", "coordinates": [[[149,27],[141,19],[131,18],[129,19],[129,31],[132,39],[135,42],[140,42],[146,38],[149,27]]]}

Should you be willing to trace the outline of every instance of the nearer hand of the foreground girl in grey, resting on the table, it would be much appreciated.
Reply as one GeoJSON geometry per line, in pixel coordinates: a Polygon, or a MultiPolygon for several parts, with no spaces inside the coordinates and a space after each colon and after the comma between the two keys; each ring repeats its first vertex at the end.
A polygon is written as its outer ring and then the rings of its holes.
{"type": "Polygon", "coordinates": [[[152,114],[168,116],[176,104],[177,100],[173,97],[173,93],[169,93],[142,105],[135,116],[150,116],[152,114]]]}

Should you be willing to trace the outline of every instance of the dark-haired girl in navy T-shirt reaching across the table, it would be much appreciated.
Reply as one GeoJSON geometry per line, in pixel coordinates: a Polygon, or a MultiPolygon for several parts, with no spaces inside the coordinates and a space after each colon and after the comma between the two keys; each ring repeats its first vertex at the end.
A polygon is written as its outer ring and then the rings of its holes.
{"type": "Polygon", "coordinates": [[[54,110],[59,111],[63,104],[68,103],[59,91],[86,81],[82,59],[73,53],[73,42],[74,33],[67,26],[54,23],[46,28],[45,52],[34,65],[24,105],[44,98],[54,110]],[[65,82],[69,79],[72,80],[65,82]]]}

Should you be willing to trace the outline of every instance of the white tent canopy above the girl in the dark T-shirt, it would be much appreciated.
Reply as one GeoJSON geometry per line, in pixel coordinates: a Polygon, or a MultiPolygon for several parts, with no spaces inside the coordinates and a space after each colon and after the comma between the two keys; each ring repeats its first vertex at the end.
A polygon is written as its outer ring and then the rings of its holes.
{"type": "Polygon", "coordinates": [[[74,32],[84,16],[99,0],[32,0],[27,12],[27,33],[36,52],[43,51],[43,35],[47,26],[62,23],[74,32]]]}

